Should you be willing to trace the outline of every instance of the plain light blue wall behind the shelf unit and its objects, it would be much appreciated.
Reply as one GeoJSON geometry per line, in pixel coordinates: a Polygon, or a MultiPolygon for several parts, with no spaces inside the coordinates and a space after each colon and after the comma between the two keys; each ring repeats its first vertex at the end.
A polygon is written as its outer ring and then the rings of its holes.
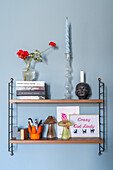
{"type": "MultiPolygon", "coordinates": [[[[113,169],[113,1],[112,0],[4,0],[0,3],[0,170],[112,170],[113,169]],[[8,90],[10,78],[22,80],[25,63],[16,52],[32,52],[55,41],[58,50],[47,53],[47,63],[36,64],[38,80],[50,85],[52,99],[65,93],[65,18],[69,17],[72,34],[72,84],[79,82],[80,70],[98,98],[98,77],[106,86],[106,151],[98,156],[96,144],[17,146],[13,157],[8,153],[8,90]]],[[[56,107],[18,107],[18,123],[27,126],[27,118],[56,115],[56,107]]]]}

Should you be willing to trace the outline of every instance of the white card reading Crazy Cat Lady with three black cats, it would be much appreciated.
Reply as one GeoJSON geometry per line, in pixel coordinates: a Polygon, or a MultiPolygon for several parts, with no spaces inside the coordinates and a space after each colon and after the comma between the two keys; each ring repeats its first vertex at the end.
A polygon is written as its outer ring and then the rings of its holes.
{"type": "Polygon", "coordinates": [[[99,137],[99,115],[70,115],[71,137],[99,137]]]}

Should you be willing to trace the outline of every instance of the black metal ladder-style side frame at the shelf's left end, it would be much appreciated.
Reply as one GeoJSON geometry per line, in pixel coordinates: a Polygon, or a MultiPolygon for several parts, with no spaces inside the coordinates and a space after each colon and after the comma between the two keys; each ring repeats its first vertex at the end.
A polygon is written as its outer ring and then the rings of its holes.
{"type": "Polygon", "coordinates": [[[13,137],[13,104],[10,103],[10,99],[13,99],[13,78],[8,83],[8,151],[11,153],[11,156],[14,155],[13,144],[10,143],[10,140],[13,137]]]}

